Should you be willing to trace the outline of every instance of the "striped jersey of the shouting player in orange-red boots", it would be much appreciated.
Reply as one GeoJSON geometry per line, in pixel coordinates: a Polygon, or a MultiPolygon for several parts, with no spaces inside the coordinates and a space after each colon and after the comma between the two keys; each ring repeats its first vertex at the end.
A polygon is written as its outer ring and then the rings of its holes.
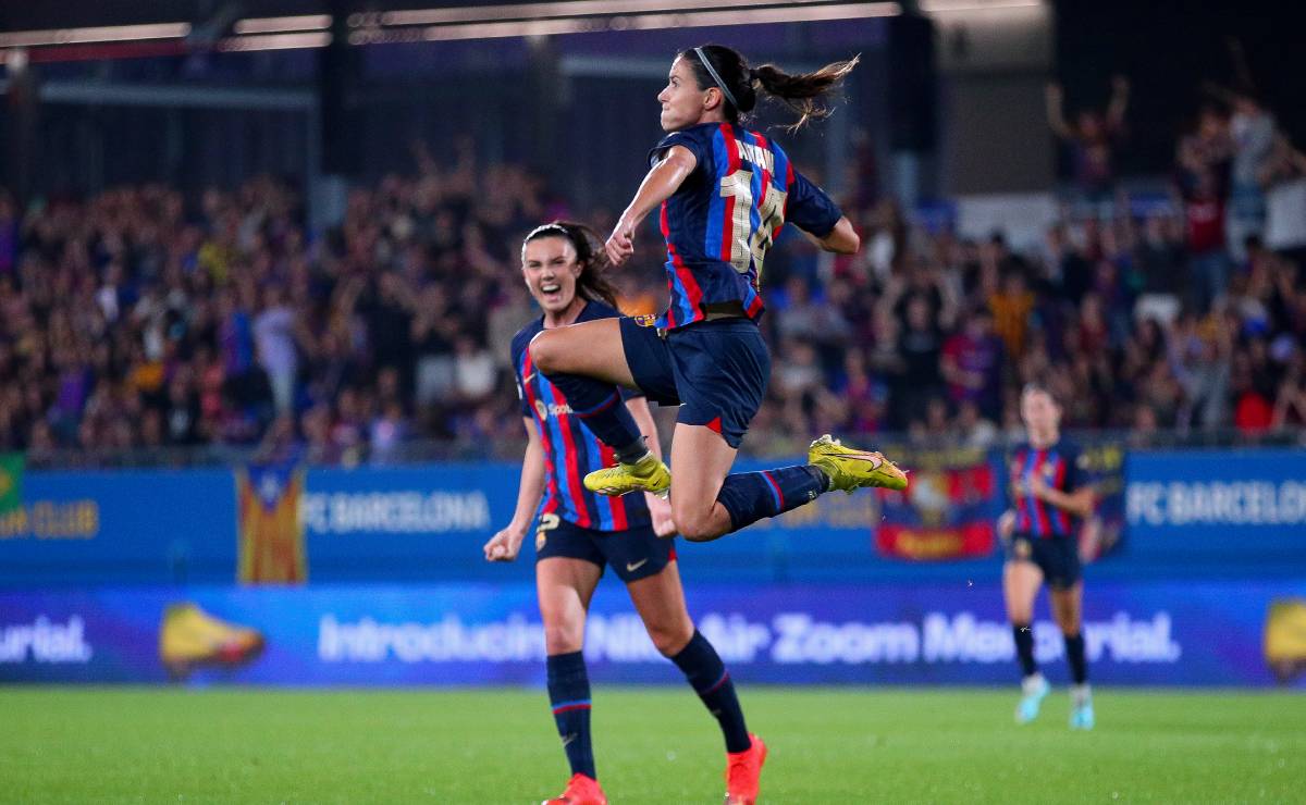
{"type": "MultiPolygon", "coordinates": [[[[611,307],[590,301],[576,321],[615,316],[620,313],[611,307]]],[[[581,483],[590,471],[615,464],[616,455],[572,415],[563,393],[532,365],[526,347],[543,329],[545,320],[539,317],[512,339],[512,367],[517,395],[521,398],[521,415],[534,420],[545,449],[545,496],[535,515],[556,514],[569,523],[596,531],[624,531],[646,526],[650,521],[643,494],[594,494],[581,483]]],[[[639,397],[639,393],[623,390],[623,398],[629,397],[639,397]]]]}

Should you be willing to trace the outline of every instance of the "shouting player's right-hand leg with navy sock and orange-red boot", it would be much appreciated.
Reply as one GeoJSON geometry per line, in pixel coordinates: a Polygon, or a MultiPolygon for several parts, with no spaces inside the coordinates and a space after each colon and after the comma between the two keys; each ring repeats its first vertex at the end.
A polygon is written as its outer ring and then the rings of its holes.
{"type": "Polygon", "coordinates": [[[627,585],[635,609],[657,650],[675,663],[690,686],[721,725],[726,744],[726,802],[751,805],[757,798],[767,745],[748,732],[734,681],[712,643],[693,628],[684,605],[677,562],[661,573],[627,585]]]}

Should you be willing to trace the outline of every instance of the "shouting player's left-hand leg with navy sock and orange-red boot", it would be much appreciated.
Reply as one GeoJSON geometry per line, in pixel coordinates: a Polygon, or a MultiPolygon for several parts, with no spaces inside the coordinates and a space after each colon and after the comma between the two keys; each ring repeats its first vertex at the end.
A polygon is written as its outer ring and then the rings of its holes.
{"type": "Polygon", "coordinates": [[[554,805],[606,805],[594,768],[590,737],[589,675],[585,671],[585,613],[602,568],[579,558],[550,557],[537,562],[535,586],[545,622],[549,702],[562,738],[571,780],[554,805]]]}

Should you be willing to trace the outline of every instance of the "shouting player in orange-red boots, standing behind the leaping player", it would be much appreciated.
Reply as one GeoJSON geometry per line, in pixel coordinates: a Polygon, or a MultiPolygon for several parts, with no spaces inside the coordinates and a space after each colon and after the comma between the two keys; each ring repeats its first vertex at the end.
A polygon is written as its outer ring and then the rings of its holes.
{"type": "MultiPolygon", "coordinates": [[[[594,771],[589,731],[589,680],[581,647],[585,613],[594,587],[611,565],[626,582],[653,645],[684,672],[717,718],[726,741],[726,802],[750,804],[767,758],[761,738],[748,733],[734,682],[712,643],[693,628],[677,570],[670,506],[652,494],[607,498],[588,492],[581,478],[602,467],[613,451],[580,425],[571,401],[538,372],[526,344],[541,331],[577,321],[619,316],[611,286],[602,277],[607,256],[599,239],[580,224],[550,223],[526,236],[521,271],[545,314],[512,341],[512,365],[526,425],[517,509],[507,528],[486,543],[486,558],[517,557],[532,522],[535,531],[535,585],[549,654],[549,699],[571,763],[567,791],[549,802],[606,802],[594,771]]],[[[618,402],[657,449],[648,402],[618,402]]]]}

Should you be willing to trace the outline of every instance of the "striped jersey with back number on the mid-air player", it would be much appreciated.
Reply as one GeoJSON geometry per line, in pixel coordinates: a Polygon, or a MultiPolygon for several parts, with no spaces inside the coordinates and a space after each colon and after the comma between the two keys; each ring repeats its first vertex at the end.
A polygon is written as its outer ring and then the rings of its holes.
{"type": "Polygon", "coordinates": [[[667,330],[709,313],[761,316],[761,264],[786,223],[824,237],[842,213],[794,170],[778,144],[729,123],[704,123],[667,134],[650,163],[674,146],[697,166],[662,202],[671,304],[657,326],[667,330]]]}

